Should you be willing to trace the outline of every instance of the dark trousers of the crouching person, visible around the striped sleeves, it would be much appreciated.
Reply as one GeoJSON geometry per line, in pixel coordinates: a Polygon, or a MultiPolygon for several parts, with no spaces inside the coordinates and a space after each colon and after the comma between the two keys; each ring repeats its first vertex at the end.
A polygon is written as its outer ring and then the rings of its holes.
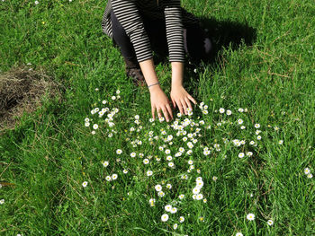
{"type": "MultiPolygon", "coordinates": [[[[113,11],[111,12],[112,20],[112,38],[114,43],[121,49],[121,54],[127,59],[136,58],[136,54],[130,38],[126,31],[117,20],[113,11]]],[[[153,21],[151,19],[143,18],[144,28],[147,31],[148,39],[151,48],[157,53],[166,55],[168,52],[166,39],[166,22],[153,21]]],[[[209,39],[199,24],[184,25],[184,50],[188,57],[193,61],[208,60],[211,58],[212,45],[209,39]]]]}

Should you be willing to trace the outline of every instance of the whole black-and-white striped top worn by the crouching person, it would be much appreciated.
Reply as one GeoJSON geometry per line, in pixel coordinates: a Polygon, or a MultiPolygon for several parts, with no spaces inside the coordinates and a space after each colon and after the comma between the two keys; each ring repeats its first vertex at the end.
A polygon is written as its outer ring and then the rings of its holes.
{"type": "Polygon", "coordinates": [[[198,20],[187,13],[180,0],[108,0],[103,13],[102,31],[112,38],[111,10],[130,37],[139,62],[152,57],[147,32],[141,15],[154,20],[165,20],[166,39],[170,62],[184,62],[183,25],[198,20]]]}

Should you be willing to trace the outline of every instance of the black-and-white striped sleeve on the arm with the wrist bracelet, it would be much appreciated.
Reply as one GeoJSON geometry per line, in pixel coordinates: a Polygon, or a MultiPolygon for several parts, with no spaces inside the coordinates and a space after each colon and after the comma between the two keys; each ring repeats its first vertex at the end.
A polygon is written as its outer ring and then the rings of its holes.
{"type": "Polygon", "coordinates": [[[112,0],[112,11],[126,31],[136,53],[138,62],[152,56],[148,34],[144,29],[139,10],[134,0],[112,0]]]}

